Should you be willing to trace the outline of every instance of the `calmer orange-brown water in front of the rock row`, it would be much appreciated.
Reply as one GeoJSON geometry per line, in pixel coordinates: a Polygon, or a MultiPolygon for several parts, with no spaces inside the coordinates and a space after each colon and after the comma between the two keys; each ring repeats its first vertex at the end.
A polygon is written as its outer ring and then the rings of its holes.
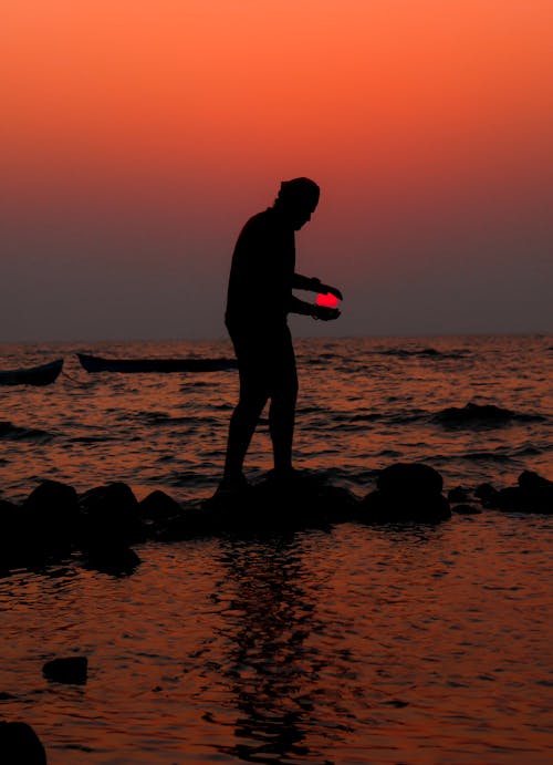
{"type": "Polygon", "coordinates": [[[0,714],[52,765],[551,762],[551,518],[138,548],[0,581],[0,714]],[[88,658],[83,686],[44,661],[88,658]]]}

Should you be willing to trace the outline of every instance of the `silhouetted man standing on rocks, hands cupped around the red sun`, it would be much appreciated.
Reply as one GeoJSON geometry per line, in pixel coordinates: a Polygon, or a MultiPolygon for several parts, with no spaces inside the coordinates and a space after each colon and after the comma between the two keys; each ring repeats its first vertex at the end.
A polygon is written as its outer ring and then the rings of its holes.
{"type": "Polygon", "coordinates": [[[285,479],[292,474],[298,375],[286,317],[302,313],[328,321],[340,316],[335,308],[300,300],[292,289],[331,292],[342,299],[336,288],[294,271],[294,231],[311,219],[317,201],[319,186],[313,180],[285,180],[274,205],[250,218],[238,238],[226,324],[238,359],[240,397],[230,421],[219,490],[232,492],[246,484],[243,461],[269,399],[274,475],[285,479]]]}

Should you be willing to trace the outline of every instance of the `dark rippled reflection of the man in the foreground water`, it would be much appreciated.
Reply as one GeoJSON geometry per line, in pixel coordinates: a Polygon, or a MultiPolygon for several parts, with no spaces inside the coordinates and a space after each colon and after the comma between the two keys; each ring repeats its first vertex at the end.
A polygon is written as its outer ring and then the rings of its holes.
{"type": "Polygon", "coordinates": [[[302,583],[301,550],[290,539],[229,542],[223,562],[232,591],[223,611],[225,674],[238,711],[238,741],[221,751],[254,763],[331,762],[313,747],[323,661],[309,639],[323,624],[314,590],[302,583]]]}

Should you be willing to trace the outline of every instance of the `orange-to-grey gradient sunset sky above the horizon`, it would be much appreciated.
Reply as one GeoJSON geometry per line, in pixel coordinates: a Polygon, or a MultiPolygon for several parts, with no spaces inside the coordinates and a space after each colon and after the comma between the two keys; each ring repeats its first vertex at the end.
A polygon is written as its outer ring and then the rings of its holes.
{"type": "Polygon", "coordinates": [[[0,68],[0,341],[225,335],[299,175],[298,334],[553,330],[552,0],[6,0],[0,68]]]}

